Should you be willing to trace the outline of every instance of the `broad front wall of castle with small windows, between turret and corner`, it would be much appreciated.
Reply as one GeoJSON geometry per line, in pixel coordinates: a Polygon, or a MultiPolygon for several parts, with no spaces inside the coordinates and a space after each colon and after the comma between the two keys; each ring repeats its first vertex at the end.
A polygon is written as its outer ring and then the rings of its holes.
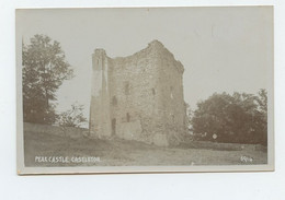
{"type": "Polygon", "coordinates": [[[116,136],[152,143],[162,131],[158,113],[158,51],[148,48],[126,58],[111,59],[112,121],[116,136]]]}

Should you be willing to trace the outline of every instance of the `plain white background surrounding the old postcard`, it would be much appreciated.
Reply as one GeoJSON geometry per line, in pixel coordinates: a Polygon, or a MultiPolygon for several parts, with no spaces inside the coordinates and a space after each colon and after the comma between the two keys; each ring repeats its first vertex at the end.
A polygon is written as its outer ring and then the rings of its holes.
{"type": "Polygon", "coordinates": [[[282,0],[22,0],[0,1],[0,188],[13,200],[219,199],[283,200],[285,197],[285,1],[282,0]],[[238,2],[238,3],[237,3],[238,2]],[[275,172],[141,174],[107,176],[18,176],[15,142],[14,9],[96,5],[251,5],[274,4],[275,19],[275,172]]]}

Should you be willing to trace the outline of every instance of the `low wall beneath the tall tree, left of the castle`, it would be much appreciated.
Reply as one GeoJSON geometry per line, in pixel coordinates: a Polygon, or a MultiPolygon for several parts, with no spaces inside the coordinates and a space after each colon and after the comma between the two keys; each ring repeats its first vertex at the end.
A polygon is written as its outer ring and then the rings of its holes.
{"type": "Polygon", "coordinates": [[[30,123],[24,122],[24,131],[34,132],[34,133],[47,133],[59,137],[68,138],[81,138],[89,134],[88,129],[75,128],[75,127],[58,127],[50,125],[39,125],[39,123],[30,123]]]}

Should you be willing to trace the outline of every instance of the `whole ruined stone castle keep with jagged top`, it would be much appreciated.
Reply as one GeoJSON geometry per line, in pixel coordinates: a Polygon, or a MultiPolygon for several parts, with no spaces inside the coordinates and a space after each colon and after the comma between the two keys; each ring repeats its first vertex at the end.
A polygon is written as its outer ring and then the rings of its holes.
{"type": "Polygon", "coordinates": [[[124,58],[92,55],[90,134],[160,146],[175,145],[186,131],[184,68],[158,40],[124,58]]]}

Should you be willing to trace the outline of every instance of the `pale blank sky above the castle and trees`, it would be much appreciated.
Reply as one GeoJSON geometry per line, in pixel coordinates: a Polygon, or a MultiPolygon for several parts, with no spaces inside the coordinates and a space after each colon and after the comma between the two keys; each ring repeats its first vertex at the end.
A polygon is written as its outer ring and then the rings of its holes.
{"type": "Polygon", "coordinates": [[[273,82],[272,7],[18,10],[16,48],[35,34],[59,42],[75,70],[57,92],[57,110],[82,104],[87,118],[95,48],[125,57],[160,40],[184,66],[192,109],[215,92],[256,94],[273,82]]]}

